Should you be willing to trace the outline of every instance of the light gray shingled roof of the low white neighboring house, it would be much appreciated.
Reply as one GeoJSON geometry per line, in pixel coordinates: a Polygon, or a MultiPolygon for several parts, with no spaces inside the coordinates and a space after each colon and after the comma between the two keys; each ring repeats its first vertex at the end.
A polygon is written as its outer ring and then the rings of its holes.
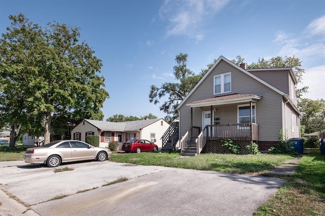
{"type": "Polygon", "coordinates": [[[164,119],[145,119],[145,120],[129,121],[129,122],[105,122],[99,120],[84,119],[84,121],[88,122],[89,124],[93,125],[94,127],[100,130],[109,130],[109,131],[138,131],[159,120],[164,120],[164,119]]]}

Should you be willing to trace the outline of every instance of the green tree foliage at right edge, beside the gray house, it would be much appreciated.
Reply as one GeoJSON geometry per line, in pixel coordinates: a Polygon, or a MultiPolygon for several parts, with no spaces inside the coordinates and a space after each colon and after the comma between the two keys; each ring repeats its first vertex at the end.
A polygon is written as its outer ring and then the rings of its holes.
{"type": "Polygon", "coordinates": [[[305,133],[325,130],[325,100],[302,98],[298,101],[302,113],[301,125],[305,126],[305,133]]]}

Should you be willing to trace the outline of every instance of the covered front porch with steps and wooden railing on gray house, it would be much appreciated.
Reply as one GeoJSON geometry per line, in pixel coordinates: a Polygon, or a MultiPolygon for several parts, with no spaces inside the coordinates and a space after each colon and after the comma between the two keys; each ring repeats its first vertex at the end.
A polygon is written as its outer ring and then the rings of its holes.
{"type": "Polygon", "coordinates": [[[245,152],[247,145],[258,140],[258,125],[254,122],[256,102],[260,99],[262,97],[257,95],[232,94],[186,104],[190,106],[191,125],[180,140],[182,155],[227,153],[221,146],[220,139],[233,140],[245,152]],[[236,106],[236,113],[235,109],[219,113],[218,108],[224,105],[236,106]],[[202,110],[201,127],[198,120],[194,121],[198,119],[198,109],[202,110]],[[222,117],[224,118],[221,119],[222,117]]]}

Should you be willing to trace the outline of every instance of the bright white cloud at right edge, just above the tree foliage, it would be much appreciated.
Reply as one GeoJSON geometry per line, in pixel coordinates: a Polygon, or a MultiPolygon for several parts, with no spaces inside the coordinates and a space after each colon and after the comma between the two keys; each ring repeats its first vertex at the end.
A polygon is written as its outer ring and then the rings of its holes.
{"type": "Polygon", "coordinates": [[[308,93],[304,94],[304,98],[317,100],[325,99],[325,65],[312,67],[305,70],[303,75],[303,82],[298,84],[298,88],[308,86],[308,93]]]}

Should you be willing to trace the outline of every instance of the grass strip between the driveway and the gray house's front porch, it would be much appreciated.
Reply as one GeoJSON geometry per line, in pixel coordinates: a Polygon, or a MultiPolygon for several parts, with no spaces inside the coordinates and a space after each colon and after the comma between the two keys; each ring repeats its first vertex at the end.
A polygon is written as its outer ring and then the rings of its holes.
{"type": "Polygon", "coordinates": [[[255,173],[272,169],[289,155],[221,155],[202,154],[197,157],[180,157],[179,152],[159,153],[143,152],[112,155],[111,161],[141,165],[167,166],[184,169],[212,170],[228,173],[255,173]]]}

